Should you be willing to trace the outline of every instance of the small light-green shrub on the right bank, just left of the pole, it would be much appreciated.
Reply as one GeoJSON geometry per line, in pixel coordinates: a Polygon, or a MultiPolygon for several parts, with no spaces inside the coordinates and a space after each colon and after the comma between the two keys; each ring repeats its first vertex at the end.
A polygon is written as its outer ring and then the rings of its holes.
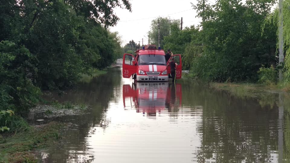
{"type": "Polygon", "coordinates": [[[271,85],[276,84],[277,82],[277,72],[274,69],[273,65],[269,68],[265,68],[264,65],[258,71],[259,80],[258,83],[271,85]]]}

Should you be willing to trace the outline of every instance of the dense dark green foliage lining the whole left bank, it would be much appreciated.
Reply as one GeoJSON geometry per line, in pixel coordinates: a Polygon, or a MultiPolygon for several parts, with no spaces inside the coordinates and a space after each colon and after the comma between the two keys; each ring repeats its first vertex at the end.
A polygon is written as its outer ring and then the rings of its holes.
{"type": "Polygon", "coordinates": [[[1,1],[0,110],[26,113],[41,89],[71,87],[119,58],[120,37],[106,29],[114,7],[131,10],[128,0],[1,1]]]}

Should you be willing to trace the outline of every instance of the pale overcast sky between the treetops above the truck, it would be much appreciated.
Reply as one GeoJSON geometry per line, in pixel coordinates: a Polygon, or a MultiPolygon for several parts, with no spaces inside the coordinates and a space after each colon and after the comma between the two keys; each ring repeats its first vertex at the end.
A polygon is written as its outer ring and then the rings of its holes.
{"type": "MultiPolygon", "coordinates": [[[[182,27],[190,25],[198,25],[200,18],[195,18],[196,11],[192,9],[192,5],[196,4],[196,0],[130,0],[132,4],[132,12],[126,9],[115,9],[117,16],[120,18],[118,24],[111,27],[112,32],[118,31],[122,37],[123,44],[134,40],[136,43],[148,44],[148,31],[150,30],[151,21],[160,17],[168,17],[170,19],[183,20],[182,27]],[[146,36],[146,37],[144,37],[146,36]]],[[[214,2],[214,1],[212,1],[214,2]]]]}

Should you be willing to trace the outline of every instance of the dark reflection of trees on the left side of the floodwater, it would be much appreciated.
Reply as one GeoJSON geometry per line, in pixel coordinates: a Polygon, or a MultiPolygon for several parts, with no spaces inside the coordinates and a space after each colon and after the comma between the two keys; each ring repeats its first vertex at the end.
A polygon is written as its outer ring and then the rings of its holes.
{"type": "Polygon", "coordinates": [[[85,138],[88,134],[94,133],[94,126],[102,125],[104,127],[102,122],[108,125],[104,112],[106,112],[108,104],[113,97],[120,98],[114,96],[114,91],[118,91],[114,90],[114,88],[120,87],[120,85],[120,70],[112,69],[108,74],[94,78],[90,83],[79,84],[76,89],[66,91],[66,94],[62,97],[58,97],[57,94],[53,96],[57,101],[85,103],[90,105],[92,109],[90,113],[55,119],[60,122],[76,124],[77,126],[63,131],[62,144],[50,149],[48,157],[44,160],[45,162],[76,162],[78,160],[90,162],[93,160],[93,155],[89,153],[85,138]],[[83,153],[76,153],[77,151],[83,151],[83,153]],[[80,159],[79,157],[83,158],[80,159]]]}

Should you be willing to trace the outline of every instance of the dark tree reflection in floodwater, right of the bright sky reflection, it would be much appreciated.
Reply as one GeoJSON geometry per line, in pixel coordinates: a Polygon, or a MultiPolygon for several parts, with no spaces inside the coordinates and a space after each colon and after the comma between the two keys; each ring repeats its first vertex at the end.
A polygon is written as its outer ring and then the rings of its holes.
{"type": "Polygon", "coordinates": [[[182,104],[203,106],[196,161],[271,161],[278,143],[277,102],[261,107],[261,99],[241,99],[198,85],[185,84],[182,90],[190,90],[183,91],[182,104]]]}

